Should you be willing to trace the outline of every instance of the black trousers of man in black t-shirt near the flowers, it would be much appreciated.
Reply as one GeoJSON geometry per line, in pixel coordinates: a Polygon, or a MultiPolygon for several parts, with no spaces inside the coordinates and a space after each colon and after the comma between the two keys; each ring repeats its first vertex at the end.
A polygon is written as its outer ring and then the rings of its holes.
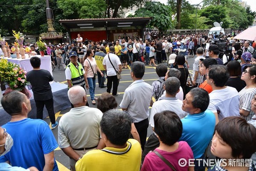
{"type": "Polygon", "coordinates": [[[51,120],[51,123],[55,124],[55,113],[54,113],[54,108],[53,108],[53,99],[35,100],[36,118],[37,119],[43,119],[44,105],[47,109],[47,112],[48,112],[49,118],[51,120]]]}

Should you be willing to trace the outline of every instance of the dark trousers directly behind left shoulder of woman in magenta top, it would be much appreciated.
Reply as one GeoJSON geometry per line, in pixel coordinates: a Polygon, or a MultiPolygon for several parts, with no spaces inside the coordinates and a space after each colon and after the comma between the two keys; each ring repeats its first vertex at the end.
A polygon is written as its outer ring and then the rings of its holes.
{"type": "Polygon", "coordinates": [[[142,164],[144,162],[146,155],[149,153],[149,151],[154,151],[154,149],[159,147],[159,145],[160,145],[159,139],[157,138],[157,136],[154,133],[152,133],[148,137],[148,141],[145,143],[145,147],[144,147],[142,158],[141,158],[142,164]]]}

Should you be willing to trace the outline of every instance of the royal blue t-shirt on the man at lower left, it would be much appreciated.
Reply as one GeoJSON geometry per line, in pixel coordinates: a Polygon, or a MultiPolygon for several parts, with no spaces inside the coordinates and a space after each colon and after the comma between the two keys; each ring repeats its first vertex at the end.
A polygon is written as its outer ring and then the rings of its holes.
{"type": "MultiPolygon", "coordinates": [[[[58,147],[49,125],[41,119],[27,118],[8,122],[2,127],[12,136],[13,146],[9,153],[0,157],[0,163],[10,161],[12,166],[35,166],[39,171],[43,171],[44,154],[49,154],[58,147]]],[[[53,171],[58,171],[55,161],[53,171]]]]}

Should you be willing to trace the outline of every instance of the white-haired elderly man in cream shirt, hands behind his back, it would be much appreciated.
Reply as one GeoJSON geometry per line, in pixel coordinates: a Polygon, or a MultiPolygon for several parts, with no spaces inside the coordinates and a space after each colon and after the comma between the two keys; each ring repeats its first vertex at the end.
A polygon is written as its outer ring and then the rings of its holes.
{"type": "Polygon", "coordinates": [[[76,162],[88,151],[103,148],[99,133],[102,112],[86,106],[87,98],[83,87],[73,86],[67,92],[74,105],[59,121],[58,145],[70,157],[71,171],[76,171],[76,162]]]}

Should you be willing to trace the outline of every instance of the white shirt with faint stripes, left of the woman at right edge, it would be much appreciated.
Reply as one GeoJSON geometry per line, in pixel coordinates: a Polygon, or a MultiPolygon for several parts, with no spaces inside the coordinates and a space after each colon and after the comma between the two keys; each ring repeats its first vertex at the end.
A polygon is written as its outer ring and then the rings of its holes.
{"type": "Polygon", "coordinates": [[[227,86],[221,90],[213,90],[209,97],[208,109],[218,113],[219,120],[228,116],[240,116],[239,95],[235,88],[227,86]]]}

